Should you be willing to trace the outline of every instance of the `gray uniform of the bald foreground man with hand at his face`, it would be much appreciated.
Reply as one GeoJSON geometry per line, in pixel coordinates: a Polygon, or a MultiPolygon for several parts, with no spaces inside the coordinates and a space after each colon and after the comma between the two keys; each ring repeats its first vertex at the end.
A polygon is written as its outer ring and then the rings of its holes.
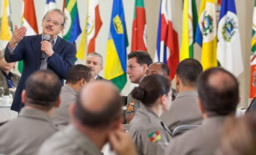
{"type": "Polygon", "coordinates": [[[74,126],[68,125],[64,130],[55,133],[46,140],[40,147],[38,154],[101,155],[102,153],[88,137],[80,133],[74,126]]]}

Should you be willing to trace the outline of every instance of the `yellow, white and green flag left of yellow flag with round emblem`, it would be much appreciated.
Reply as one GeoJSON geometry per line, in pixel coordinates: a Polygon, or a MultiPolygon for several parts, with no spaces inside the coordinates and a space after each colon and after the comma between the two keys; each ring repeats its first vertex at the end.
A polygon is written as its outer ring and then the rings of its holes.
{"type": "Polygon", "coordinates": [[[197,26],[195,0],[185,0],[183,7],[183,32],[180,60],[194,57],[195,30],[197,26]]]}

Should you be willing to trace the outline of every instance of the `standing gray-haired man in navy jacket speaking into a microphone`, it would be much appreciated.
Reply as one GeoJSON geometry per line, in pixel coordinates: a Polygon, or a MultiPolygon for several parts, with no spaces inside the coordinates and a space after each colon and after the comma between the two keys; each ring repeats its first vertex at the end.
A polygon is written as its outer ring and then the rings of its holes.
{"type": "Polygon", "coordinates": [[[74,44],[58,36],[64,29],[64,24],[64,13],[60,9],[52,9],[43,16],[43,33],[40,35],[25,36],[26,27],[15,26],[12,38],[5,48],[5,60],[23,60],[23,71],[12,102],[12,110],[19,112],[22,108],[21,93],[27,77],[34,71],[52,70],[63,84],[67,71],[74,65],[76,51],[74,44]]]}

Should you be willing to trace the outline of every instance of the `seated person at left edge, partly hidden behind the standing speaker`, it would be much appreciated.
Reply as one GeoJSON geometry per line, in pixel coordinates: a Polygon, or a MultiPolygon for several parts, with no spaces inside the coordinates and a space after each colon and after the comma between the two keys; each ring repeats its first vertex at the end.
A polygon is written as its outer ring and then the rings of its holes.
{"type": "Polygon", "coordinates": [[[11,72],[16,63],[5,61],[5,50],[0,50],[0,87],[4,88],[5,95],[9,95],[10,88],[16,88],[19,83],[19,75],[11,72]]]}

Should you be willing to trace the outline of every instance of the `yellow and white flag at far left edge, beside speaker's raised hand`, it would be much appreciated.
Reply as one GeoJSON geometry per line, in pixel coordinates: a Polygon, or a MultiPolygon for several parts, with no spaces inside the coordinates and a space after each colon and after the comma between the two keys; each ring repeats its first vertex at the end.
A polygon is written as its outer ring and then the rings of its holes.
{"type": "Polygon", "coordinates": [[[0,50],[3,50],[12,36],[12,22],[10,14],[9,0],[2,0],[0,17],[0,50]]]}

